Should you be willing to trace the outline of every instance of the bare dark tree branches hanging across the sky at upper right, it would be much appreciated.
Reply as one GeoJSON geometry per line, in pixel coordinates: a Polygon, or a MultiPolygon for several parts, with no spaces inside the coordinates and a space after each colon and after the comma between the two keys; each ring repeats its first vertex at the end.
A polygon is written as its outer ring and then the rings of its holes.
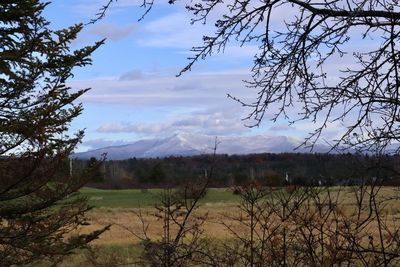
{"type": "MultiPolygon", "coordinates": [[[[143,2],[146,13],[152,5],[143,2]]],[[[192,48],[179,75],[231,42],[258,46],[245,81],[257,97],[249,103],[230,96],[250,108],[249,126],[314,122],[304,142],[311,148],[329,126],[341,129],[327,140],[334,148],[382,152],[398,143],[399,1],[197,0],[186,9],[193,23],[213,22],[215,33],[192,48]]]]}

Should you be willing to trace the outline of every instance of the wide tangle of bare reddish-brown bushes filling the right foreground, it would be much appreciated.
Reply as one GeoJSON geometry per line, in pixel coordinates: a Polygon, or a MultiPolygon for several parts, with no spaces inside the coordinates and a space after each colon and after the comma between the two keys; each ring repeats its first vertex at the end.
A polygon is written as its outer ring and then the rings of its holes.
{"type": "Polygon", "coordinates": [[[393,198],[380,190],[243,186],[236,223],[222,222],[235,240],[225,249],[240,256],[228,266],[398,266],[399,227],[384,212],[393,198]]]}

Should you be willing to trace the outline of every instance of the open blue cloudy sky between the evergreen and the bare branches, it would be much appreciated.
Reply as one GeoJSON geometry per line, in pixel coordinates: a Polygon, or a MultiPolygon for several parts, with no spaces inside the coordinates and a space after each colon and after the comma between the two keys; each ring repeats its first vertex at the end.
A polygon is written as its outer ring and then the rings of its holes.
{"type": "MultiPolygon", "coordinates": [[[[44,16],[60,29],[93,19],[107,0],[53,0],[44,16]]],[[[207,135],[286,135],[304,138],[310,122],[272,123],[267,113],[259,127],[243,118],[251,111],[227,98],[254,100],[257,90],[242,82],[250,78],[257,46],[231,43],[224,53],[197,62],[190,72],[176,77],[214,32],[212,23],[192,25],[184,6],[157,2],[141,21],[144,9],[137,0],[119,0],[105,18],[87,25],[72,44],[80,48],[106,38],[92,56],[93,64],[77,69],[69,81],[74,89],[92,88],[80,98],[84,111],[71,130],[85,129],[78,151],[168,137],[179,132],[207,135]]],[[[290,13],[290,11],[286,11],[290,13]]],[[[283,16],[282,12],[282,16],[283,16]]],[[[271,115],[271,116],[270,116],[271,115]]],[[[326,136],[335,136],[335,128],[326,136]]]]}

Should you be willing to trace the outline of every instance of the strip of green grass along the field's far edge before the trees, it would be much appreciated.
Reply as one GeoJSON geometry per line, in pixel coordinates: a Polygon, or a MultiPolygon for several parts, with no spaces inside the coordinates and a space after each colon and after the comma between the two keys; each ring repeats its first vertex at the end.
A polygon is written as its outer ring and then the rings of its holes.
{"type": "MultiPolygon", "coordinates": [[[[140,208],[154,206],[162,189],[101,190],[85,187],[80,192],[88,198],[90,205],[97,208],[140,208]]],[[[201,202],[230,203],[237,202],[238,199],[239,197],[228,189],[211,188],[201,202]]]]}

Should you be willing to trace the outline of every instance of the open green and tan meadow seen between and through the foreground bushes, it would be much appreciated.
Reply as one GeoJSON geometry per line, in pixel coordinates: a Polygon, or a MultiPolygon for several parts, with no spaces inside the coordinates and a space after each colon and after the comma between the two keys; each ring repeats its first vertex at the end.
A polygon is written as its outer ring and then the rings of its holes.
{"type": "MultiPolygon", "coordinates": [[[[353,194],[353,187],[333,187],[329,189],[332,198],[337,198],[340,205],[337,210],[343,214],[352,214],[356,208],[356,198],[353,194]]],[[[162,189],[146,190],[98,190],[92,188],[83,188],[80,191],[85,195],[89,203],[94,207],[89,213],[91,225],[81,229],[81,233],[99,229],[106,225],[111,225],[109,231],[106,231],[101,237],[93,242],[96,259],[100,262],[107,262],[110,258],[118,258],[123,264],[135,262],[143,250],[143,226],[148,226],[147,237],[156,240],[163,234],[163,221],[155,216],[155,206],[160,200],[162,189]],[[140,216],[139,216],[140,215],[140,216]],[[144,222],[144,224],[143,224],[144,222]]],[[[285,193],[286,194],[286,193],[285,193]]],[[[400,201],[395,198],[399,191],[394,187],[382,187],[378,196],[385,200],[382,206],[382,217],[390,227],[398,227],[400,219],[400,201]]],[[[320,197],[326,197],[326,193],[321,193],[320,197]]],[[[366,202],[370,198],[366,197],[366,202]]],[[[234,194],[231,189],[209,189],[207,195],[201,199],[199,208],[195,211],[196,215],[206,216],[205,223],[202,225],[205,238],[212,240],[231,240],[232,234],[227,230],[226,225],[233,226],[240,232],[243,227],[238,224],[235,218],[243,213],[239,208],[241,202],[240,196],[234,194]],[[242,228],[241,228],[242,227],[242,228]]],[[[367,203],[364,203],[367,204],[367,203]]],[[[366,207],[368,207],[366,205],[366,207]]],[[[361,216],[368,217],[370,210],[363,209],[361,216]]],[[[277,216],[270,217],[276,225],[279,225],[277,216]]],[[[295,226],[288,226],[293,228],[295,226]]],[[[333,226],[332,226],[333,227],[333,226]]],[[[368,224],[366,227],[374,234],[377,233],[378,226],[376,222],[368,224]]],[[[69,257],[60,266],[80,266],[83,263],[88,264],[93,255],[87,252],[78,252],[69,257]]],[[[40,266],[46,266],[41,263],[40,266]]],[[[135,266],[128,264],[127,266],[135,266]]]]}

